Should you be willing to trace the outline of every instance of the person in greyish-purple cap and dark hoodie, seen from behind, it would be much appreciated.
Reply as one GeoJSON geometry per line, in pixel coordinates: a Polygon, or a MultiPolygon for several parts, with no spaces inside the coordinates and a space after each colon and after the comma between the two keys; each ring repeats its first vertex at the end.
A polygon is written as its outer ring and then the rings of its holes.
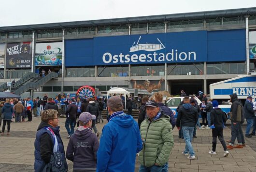
{"type": "Polygon", "coordinates": [[[79,115],[79,127],[71,136],[66,157],[73,164],[73,172],[95,172],[97,162],[97,151],[99,148],[98,137],[92,132],[92,120],[96,116],[89,112],[79,115]]]}

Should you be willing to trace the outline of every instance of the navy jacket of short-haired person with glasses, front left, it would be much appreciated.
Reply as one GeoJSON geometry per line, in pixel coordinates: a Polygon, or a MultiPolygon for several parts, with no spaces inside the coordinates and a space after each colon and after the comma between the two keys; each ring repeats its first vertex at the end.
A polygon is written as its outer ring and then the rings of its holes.
{"type": "MultiPolygon", "coordinates": [[[[37,134],[36,134],[36,139],[35,139],[35,143],[34,143],[34,146],[35,146],[35,151],[34,151],[34,155],[35,155],[34,170],[35,170],[35,172],[42,172],[43,171],[43,167],[46,165],[46,163],[43,161],[41,150],[48,148],[48,149],[51,149],[51,152],[53,154],[54,139],[53,139],[53,136],[52,136],[51,132],[49,130],[44,129],[44,127],[50,127],[53,130],[54,134],[57,137],[59,151],[61,152],[63,158],[66,157],[65,156],[65,151],[64,151],[64,146],[63,146],[61,137],[59,135],[59,126],[55,128],[55,127],[52,127],[51,125],[49,125],[48,123],[41,122],[39,124],[39,126],[38,126],[37,134]],[[50,147],[45,147],[46,144],[42,143],[41,136],[43,134],[45,134],[45,133],[50,135],[49,140],[47,140],[47,143],[52,142],[52,145],[50,145],[50,147]],[[41,147],[41,144],[43,145],[42,147],[41,147]]],[[[68,165],[67,164],[65,164],[65,165],[66,165],[66,167],[68,169],[68,165]]]]}

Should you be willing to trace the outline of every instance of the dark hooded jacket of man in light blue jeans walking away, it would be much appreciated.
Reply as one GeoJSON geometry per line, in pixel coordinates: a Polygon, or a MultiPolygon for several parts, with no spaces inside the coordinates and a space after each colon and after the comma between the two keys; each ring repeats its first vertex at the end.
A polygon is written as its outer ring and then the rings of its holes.
{"type": "Polygon", "coordinates": [[[190,103],[183,104],[178,111],[177,127],[195,127],[198,122],[198,111],[190,103]]]}

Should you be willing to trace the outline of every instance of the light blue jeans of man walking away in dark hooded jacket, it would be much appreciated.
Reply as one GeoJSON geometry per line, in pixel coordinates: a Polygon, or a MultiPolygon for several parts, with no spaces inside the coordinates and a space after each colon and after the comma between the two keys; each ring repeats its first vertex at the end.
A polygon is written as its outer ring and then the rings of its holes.
{"type": "Polygon", "coordinates": [[[183,126],[182,127],[182,132],[183,132],[183,136],[184,136],[184,139],[185,139],[185,142],[186,142],[184,153],[189,152],[190,156],[195,155],[195,152],[194,152],[192,144],[191,144],[191,141],[193,139],[194,127],[183,126]]]}

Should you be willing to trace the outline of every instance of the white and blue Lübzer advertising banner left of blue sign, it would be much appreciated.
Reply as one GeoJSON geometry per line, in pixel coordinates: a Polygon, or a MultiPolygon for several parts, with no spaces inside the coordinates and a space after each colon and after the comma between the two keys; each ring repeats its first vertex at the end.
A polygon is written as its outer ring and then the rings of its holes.
{"type": "Polygon", "coordinates": [[[62,42],[36,44],[35,66],[62,64],[62,42]]]}

